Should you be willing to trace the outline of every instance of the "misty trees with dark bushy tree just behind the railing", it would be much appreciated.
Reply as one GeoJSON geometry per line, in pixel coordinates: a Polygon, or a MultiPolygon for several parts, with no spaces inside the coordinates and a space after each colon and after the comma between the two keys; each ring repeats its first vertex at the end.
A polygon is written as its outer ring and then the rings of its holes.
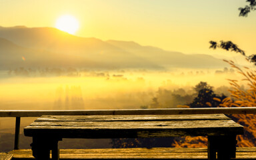
{"type": "Polygon", "coordinates": [[[225,86],[214,89],[202,81],[190,89],[159,87],[151,103],[141,108],[217,107],[222,99],[229,96],[228,89],[225,86]]]}

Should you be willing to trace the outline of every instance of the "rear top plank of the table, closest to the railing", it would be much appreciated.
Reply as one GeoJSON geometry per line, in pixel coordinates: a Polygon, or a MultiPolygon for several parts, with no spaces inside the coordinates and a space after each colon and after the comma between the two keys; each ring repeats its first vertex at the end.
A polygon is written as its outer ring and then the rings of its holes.
{"type": "Polygon", "coordinates": [[[217,115],[43,115],[36,121],[162,121],[162,120],[203,120],[230,119],[223,114],[217,115]]]}

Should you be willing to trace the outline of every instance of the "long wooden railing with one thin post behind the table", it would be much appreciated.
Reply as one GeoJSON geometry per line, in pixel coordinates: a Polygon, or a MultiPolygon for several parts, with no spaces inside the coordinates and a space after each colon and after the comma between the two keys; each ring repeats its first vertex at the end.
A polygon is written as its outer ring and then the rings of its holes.
{"type": "Polygon", "coordinates": [[[256,107],[233,108],[172,108],[172,109],[106,109],[106,110],[0,110],[0,117],[15,117],[15,144],[19,149],[21,117],[41,115],[195,115],[195,114],[255,114],[256,107]]]}

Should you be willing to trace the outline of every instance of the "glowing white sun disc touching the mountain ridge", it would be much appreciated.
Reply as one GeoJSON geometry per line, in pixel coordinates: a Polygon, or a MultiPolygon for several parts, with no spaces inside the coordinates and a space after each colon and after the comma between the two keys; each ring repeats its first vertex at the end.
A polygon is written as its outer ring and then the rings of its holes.
{"type": "Polygon", "coordinates": [[[79,22],[72,15],[62,15],[57,19],[55,27],[73,35],[79,29],[79,22]]]}

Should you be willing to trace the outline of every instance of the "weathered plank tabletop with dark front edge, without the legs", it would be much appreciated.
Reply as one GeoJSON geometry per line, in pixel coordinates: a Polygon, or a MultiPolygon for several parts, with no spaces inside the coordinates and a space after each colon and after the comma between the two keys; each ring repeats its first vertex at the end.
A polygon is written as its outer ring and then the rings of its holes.
{"type": "Polygon", "coordinates": [[[61,138],[181,137],[239,135],[243,127],[225,115],[42,116],[26,136],[61,138]]]}

